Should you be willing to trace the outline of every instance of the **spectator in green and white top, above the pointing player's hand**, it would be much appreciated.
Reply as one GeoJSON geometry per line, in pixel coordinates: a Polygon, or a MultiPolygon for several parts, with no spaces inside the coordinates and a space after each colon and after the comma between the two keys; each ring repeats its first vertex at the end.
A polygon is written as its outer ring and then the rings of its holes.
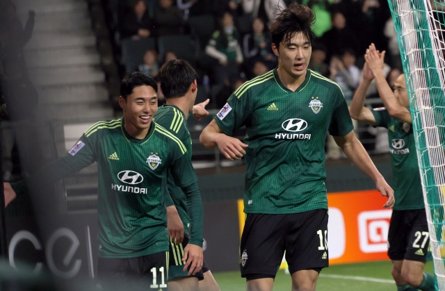
{"type": "Polygon", "coordinates": [[[213,67],[213,77],[218,84],[227,81],[233,86],[238,78],[238,65],[243,63],[243,53],[238,44],[238,31],[234,26],[234,19],[229,12],[225,12],[218,21],[219,28],[209,40],[206,53],[218,60],[213,67]]]}

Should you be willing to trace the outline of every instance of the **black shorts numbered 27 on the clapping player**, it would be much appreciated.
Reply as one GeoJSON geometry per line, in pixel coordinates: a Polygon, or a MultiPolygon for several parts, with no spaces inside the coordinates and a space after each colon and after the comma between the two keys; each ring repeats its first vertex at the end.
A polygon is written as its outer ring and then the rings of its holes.
{"type": "Polygon", "coordinates": [[[393,210],[388,232],[391,260],[427,260],[430,234],[425,209],[393,210]]]}

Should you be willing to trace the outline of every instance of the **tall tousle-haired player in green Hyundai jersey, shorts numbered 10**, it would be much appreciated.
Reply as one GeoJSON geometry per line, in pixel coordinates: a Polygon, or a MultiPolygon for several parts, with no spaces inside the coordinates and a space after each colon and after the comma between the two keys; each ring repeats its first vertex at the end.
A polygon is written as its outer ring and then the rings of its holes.
{"type": "Polygon", "coordinates": [[[275,17],[270,33],[278,67],[238,88],[200,136],[226,158],[245,156],[240,267],[247,290],[273,289],[284,251],[292,290],[315,290],[327,267],[327,130],[388,197],[384,207],[394,204],[392,189],[355,138],[341,89],[307,69],[313,22],[312,10],[296,3],[275,17]],[[241,126],[245,143],[231,137],[241,126]]]}

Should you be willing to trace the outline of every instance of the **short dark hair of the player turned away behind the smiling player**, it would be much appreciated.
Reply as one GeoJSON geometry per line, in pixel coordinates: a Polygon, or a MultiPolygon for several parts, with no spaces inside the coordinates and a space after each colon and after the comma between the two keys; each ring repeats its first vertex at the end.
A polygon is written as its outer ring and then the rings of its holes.
{"type": "Polygon", "coordinates": [[[158,72],[161,90],[167,99],[183,97],[197,78],[197,72],[186,60],[170,60],[158,72]]]}

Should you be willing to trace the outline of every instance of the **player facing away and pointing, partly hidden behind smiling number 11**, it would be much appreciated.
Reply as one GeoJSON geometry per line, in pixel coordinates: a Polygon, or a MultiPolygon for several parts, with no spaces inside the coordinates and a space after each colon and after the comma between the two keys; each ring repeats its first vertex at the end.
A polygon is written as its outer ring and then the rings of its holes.
{"type": "MultiPolygon", "coordinates": [[[[165,63],[158,74],[161,91],[167,103],[158,109],[154,119],[156,124],[167,128],[186,146],[188,157],[192,156],[192,140],[188,131],[187,117],[193,113],[197,119],[209,115],[205,106],[209,100],[193,106],[197,94],[197,73],[186,60],[170,60],[165,63]]],[[[166,206],[168,213],[168,232],[170,236],[170,267],[168,269],[169,291],[218,291],[218,284],[213,278],[209,267],[204,263],[202,270],[188,276],[184,263],[183,249],[193,241],[189,240],[190,219],[186,200],[181,188],[175,185],[171,174],[168,175],[168,191],[166,206]],[[176,245],[175,241],[179,244],[176,245]],[[198,281],[199,279],[199,281],[198,281]]]]}

